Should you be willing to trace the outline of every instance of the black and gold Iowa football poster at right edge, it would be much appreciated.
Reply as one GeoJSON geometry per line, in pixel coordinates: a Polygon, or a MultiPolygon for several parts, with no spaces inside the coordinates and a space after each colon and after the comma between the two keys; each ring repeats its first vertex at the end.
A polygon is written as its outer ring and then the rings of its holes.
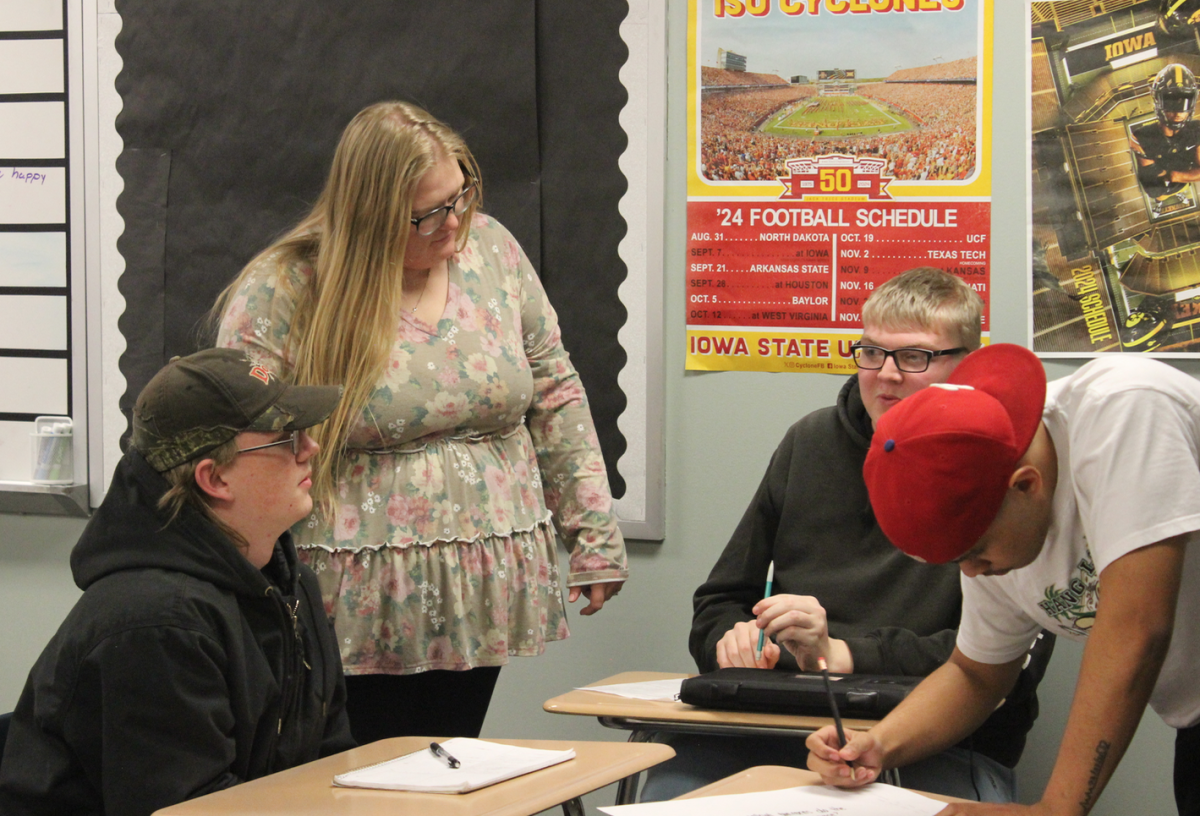
{"type": "Polygon", "coordinates": [[[1030,5],[1031,347],[1200,353],[1200,0],[1030,5]]]}

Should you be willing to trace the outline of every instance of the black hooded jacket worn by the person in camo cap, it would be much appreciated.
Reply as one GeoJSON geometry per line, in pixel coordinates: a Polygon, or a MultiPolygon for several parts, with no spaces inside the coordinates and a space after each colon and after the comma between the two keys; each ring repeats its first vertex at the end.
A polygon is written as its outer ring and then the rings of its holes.
{"type": "Polygon", "coordinates": [[[29,674],[0,814],[151,814],[354,745],[316,576],[263,570],[131,451],[71,554],[83,596],[29,674]]]}

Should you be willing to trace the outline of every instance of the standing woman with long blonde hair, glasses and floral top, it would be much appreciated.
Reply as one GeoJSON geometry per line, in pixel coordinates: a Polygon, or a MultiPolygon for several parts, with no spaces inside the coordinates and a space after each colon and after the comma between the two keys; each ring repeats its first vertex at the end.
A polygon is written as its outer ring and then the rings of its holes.
{"type": "Polygon", "coordinates": [[[344,383],[294,528],[371,742],[479,736],[499,667],[568,636],[628,577],[587,397],[479,168],[425,110],[342,133],[312,211],[217,301],[218,346],[344,383]],[[559,574],[556,527],[570,552],[559,574]]]}

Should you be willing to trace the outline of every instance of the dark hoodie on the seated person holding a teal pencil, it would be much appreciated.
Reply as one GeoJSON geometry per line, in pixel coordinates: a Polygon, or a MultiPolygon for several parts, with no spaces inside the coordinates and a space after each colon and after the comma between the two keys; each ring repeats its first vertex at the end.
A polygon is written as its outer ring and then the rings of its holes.
{"type": "MultiPolygon", "coordinates": [[[[955,564],[920,564],[892,546],[871,511],[863,462],[871,419],[851,377],[838,404],[812,412],[779,444],[757,493],[713,571],[692,598],[689,647],[702,672],[716,668],[716,642],[752,620],[767,565],[773,594],[811,595],[829,636],[846,641],[860,674],[925,676],[954,649],[962,592],[955,564]]],[[[914,490],[920,490],[914,485],[914,490]]],[[[1009,768],[1037,718],[1034,694],[1052,636],[1040,643],[1013,694],[974,734],[977,750],[1009,768]]],[[[796,671],[784,649],[779,668],[796,671]]]]}

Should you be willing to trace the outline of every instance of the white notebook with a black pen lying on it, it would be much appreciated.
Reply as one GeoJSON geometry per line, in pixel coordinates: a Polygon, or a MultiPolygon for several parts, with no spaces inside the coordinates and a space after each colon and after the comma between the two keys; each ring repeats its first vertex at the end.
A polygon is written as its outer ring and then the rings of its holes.
{"type": "Polygon", "coordinates": [[[440,743],[461,766],[450,768],[426,748],[334,776],[342,787],[420,793],[467,793],[575,758],[575,750],[547,751],[455,737],[440,743]]]}

